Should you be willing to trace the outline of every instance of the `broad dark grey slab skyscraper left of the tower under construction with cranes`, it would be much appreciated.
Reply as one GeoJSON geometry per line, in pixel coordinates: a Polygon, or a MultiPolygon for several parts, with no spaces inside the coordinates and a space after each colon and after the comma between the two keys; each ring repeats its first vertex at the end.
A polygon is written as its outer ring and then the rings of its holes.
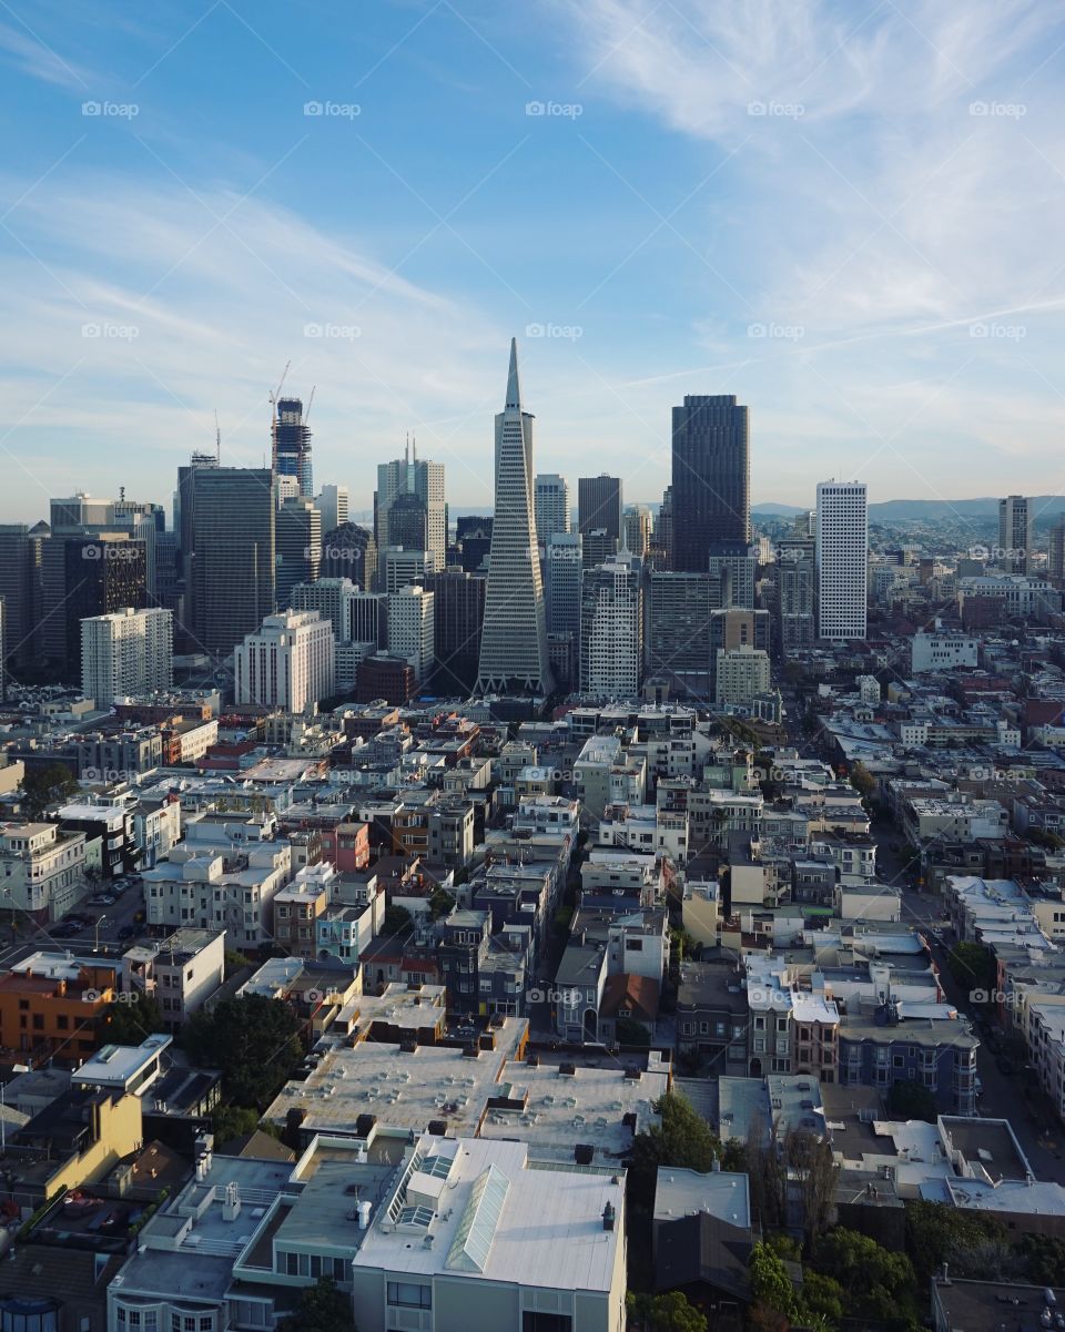
{"type": "Polygon", "coordinates": [[[275,611],[277,506],[261,468],[192,472],[192,637],[228,655],[275,611]]]}

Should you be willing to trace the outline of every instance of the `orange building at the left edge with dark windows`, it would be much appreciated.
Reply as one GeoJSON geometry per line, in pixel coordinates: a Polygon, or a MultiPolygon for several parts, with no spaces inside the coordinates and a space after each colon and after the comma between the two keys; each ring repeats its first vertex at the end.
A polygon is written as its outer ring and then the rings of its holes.
{"type": "Polygon", "coordinates": [[[80,1063],[100,1043],[115,967],[35,952],[0,976],[0,1047],[80,1063]]]}

